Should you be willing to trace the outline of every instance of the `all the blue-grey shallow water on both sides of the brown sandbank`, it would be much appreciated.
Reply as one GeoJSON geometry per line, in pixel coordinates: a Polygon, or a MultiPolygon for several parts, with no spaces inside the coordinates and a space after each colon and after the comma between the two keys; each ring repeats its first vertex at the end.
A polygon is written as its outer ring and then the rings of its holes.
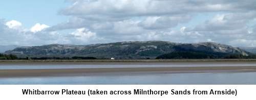
{"type": "MultiPolygon", "coordinates": [[[[89,64],[89,65],[0,65],[0,69],[55,69],[109,67],[212,67],[256,66],[256,63],[172,63],[172,64],[89,64]]],[[[255,84],[256,72],[114,72],[63,74],[58,77],[0,78],[0,84],[255,84]]]]}

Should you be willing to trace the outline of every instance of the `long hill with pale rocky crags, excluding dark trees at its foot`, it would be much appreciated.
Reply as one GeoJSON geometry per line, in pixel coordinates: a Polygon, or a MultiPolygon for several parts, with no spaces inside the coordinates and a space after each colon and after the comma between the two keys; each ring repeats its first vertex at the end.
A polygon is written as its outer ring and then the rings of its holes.
{"type": "Polygon", "coordinates": [[[197,52],[201,53],[201,55],[215,55],[217,58],[234,54],[242,56],[250,55],[250,53],[240,48],[214,42],[174,43],[167,41],[130,41],[91,45],[50,44],[17,47],[5,53],[14,54],[18,57],[79,56],[96,58],[114,57],[116,59],[155,59],[160,55],[175,52],[197,52]]]}

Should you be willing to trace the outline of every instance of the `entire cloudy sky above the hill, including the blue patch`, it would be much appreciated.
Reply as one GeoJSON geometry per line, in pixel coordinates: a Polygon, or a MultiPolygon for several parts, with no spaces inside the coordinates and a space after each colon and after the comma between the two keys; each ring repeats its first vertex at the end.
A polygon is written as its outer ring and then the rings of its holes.
{"type": "Polygon", "coordinates": [[[255,0],[1,1],[0,45],[162,40],[256,46],[255,0]]]}

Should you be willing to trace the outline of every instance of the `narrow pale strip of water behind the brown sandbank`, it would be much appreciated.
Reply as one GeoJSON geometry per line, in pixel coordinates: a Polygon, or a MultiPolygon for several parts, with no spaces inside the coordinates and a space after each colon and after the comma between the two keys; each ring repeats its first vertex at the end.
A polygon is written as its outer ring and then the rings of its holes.
{"type": "Polygon", "coordinates": [[[62,65],[0,65],[0,69],[63,69],[63,68],[121,68],[121,67],[227,67],[256,66],[256,63],[117,63],[117,64],[62,64],[62,65]]]}

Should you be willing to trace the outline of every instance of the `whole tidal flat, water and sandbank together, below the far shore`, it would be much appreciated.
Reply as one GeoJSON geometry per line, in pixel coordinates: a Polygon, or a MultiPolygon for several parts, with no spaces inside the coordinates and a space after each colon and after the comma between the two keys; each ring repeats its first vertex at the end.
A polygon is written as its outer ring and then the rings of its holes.
{"type": "Polygon", "coordinates": [[[1,64],[0,73],[0,84],[256,84],[254,62],[1,64]]]}

